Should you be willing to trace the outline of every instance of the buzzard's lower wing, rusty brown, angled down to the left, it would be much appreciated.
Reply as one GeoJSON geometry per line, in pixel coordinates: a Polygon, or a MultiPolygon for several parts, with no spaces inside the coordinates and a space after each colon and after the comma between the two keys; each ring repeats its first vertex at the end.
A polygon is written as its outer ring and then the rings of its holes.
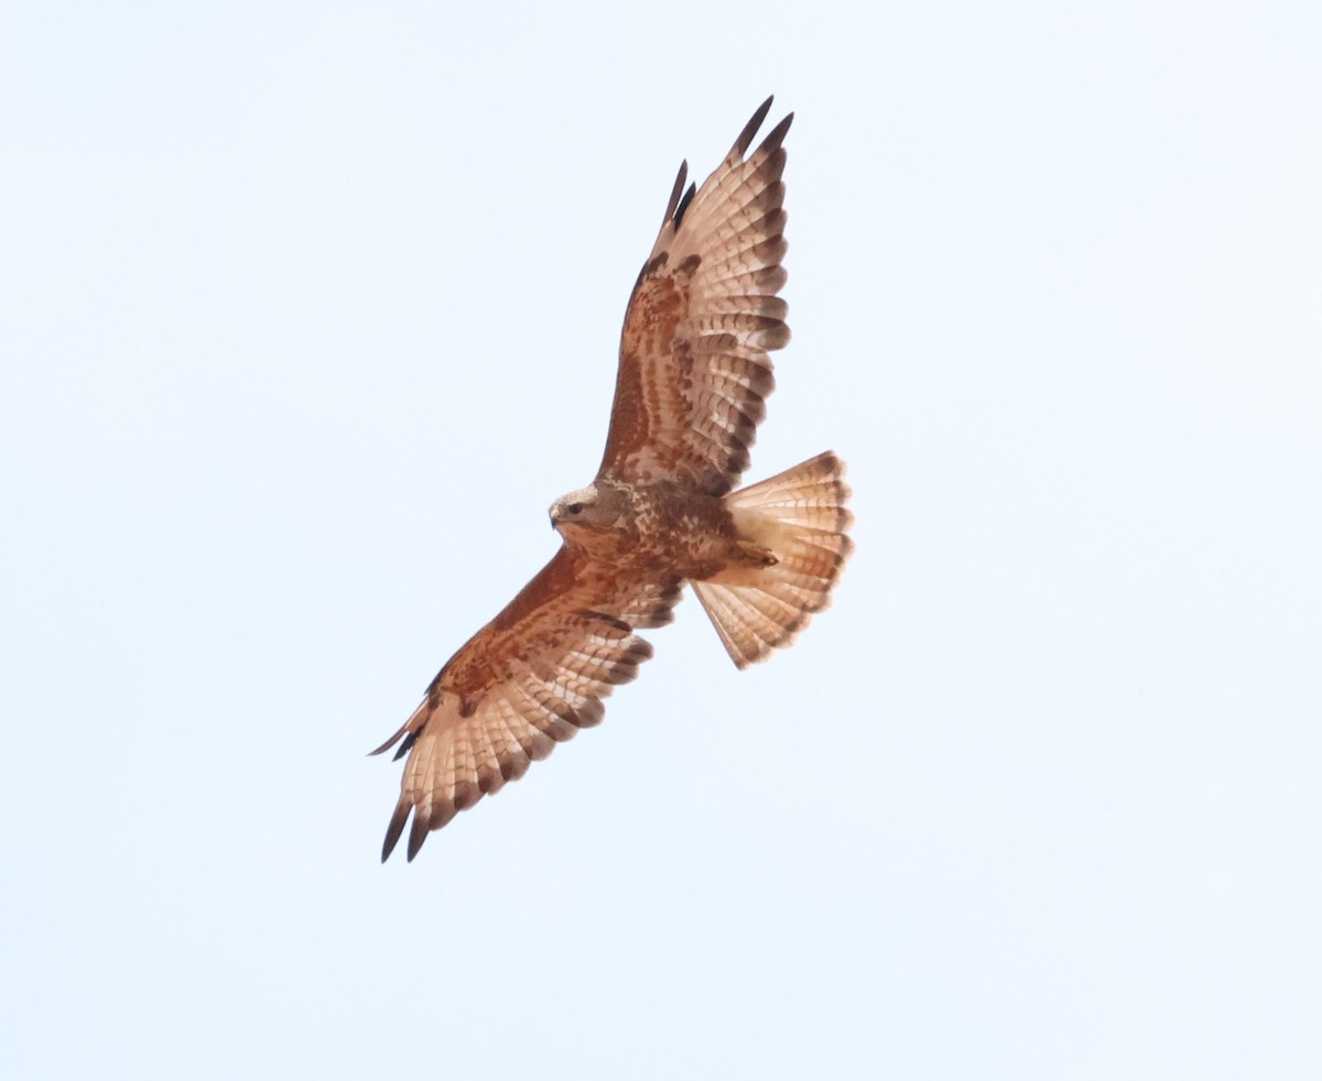
{"type": "Polygon", "coordinates": [[[411,860],[431,830],[596,724],[602,699],[652,655],[633,630],[669,622],[681,585],[678,579],[631,579],[562,547],[448,661],[405,726],[371,752],[403,739],[395,757],[408,755],[382,862],[410,813],[411,860]]]}

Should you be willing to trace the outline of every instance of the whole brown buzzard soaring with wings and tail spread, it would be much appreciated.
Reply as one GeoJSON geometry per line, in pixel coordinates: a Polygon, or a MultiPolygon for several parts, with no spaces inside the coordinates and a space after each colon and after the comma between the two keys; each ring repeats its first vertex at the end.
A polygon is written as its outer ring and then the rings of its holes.
{"type": "Polygon", "coordinates": [[[767,350],[789,341],[776,293],[793,114],[744,156],[769,108],[701,189],[680,167],[624,316],[602,468],[551,505],[561,550],[373,752],[402,739],[395,759],[408,755],[382,860],[410,813],[411,860],[431,830],[596,724],[652,655],[635,632],[669,622],[685,583],[739,667],[829,603],[853,547],[845,464],[828,452],[731,490],[773,386],[767,350]]]}

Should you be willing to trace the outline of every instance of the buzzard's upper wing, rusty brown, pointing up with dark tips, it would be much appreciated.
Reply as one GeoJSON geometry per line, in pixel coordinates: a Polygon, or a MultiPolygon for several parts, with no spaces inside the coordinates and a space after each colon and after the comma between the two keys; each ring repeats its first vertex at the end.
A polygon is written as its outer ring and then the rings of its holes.
{"type": "Polygon", "coordinates": [[[781,143],[793,114],[744,157],[769,108],[771,98],[702,188],[685,190],[687,163],[680,167],[624,316],[599,476],[723,496],[748,466],[775,386],[767,350],[789,341],[776,293],[787,247],[781,143]]]}

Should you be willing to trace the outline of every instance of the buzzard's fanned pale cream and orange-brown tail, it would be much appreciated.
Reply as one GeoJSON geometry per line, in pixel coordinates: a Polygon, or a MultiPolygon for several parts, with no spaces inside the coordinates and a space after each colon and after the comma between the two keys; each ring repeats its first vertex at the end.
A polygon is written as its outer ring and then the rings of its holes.
{"type": "Polygon", "coordinates": [[[693,588],[739,667],[787,646],[830,591],[854,544],[845,463],[828,451],[726,496],[739,535],[773,563],[731,567],[693,588]]]}

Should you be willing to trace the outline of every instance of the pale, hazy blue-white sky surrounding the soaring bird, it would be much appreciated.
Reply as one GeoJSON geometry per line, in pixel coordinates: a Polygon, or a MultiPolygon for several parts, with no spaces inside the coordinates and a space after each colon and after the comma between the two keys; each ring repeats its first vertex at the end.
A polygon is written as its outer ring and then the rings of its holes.
{"type": "Polygon", "coordinates": [[[11,4],[12,1077],[1314,1078],[1322,8],[11,4]],[[378,864],[775,93],[834,608],[378,864]]]}

